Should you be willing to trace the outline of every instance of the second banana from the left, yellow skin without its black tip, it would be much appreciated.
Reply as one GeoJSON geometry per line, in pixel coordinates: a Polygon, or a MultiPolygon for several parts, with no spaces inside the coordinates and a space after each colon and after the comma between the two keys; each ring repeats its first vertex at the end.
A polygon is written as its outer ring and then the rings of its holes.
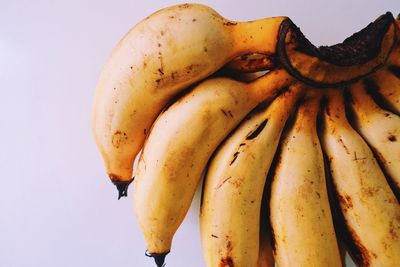
{"type": "Polygon", "coordinates": [[[206,80],[157,118],[133,183],[136,217],[150,253],[170,250],[216,147],[250,110],[289,81],[283,70],[250,84],[206,80]]]}

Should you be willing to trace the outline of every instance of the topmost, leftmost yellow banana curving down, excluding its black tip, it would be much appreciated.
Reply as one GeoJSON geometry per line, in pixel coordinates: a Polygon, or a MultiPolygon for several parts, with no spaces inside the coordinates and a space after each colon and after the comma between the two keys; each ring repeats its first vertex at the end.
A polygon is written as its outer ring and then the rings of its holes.
{"type": "Polygon", "coordinates": [[[236,23],[183,4],[133,27],[113,49],[94,98],[93,132],[110,178],[130,180],[152,123],[173,96],[238,55],[273,54],[284,19],[236,23]]]}

